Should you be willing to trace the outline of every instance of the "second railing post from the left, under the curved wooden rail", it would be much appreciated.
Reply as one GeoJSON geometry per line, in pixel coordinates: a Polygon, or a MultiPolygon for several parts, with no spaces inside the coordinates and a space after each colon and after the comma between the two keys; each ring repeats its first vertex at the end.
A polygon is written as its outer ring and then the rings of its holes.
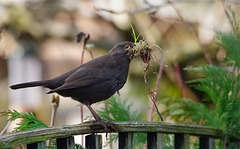
{"type": "Polygon", "coordinates": [[[74,145],[73,136],[67,138],[58,138],[56,139],[57,149],[72,149],[74,145]]]}

